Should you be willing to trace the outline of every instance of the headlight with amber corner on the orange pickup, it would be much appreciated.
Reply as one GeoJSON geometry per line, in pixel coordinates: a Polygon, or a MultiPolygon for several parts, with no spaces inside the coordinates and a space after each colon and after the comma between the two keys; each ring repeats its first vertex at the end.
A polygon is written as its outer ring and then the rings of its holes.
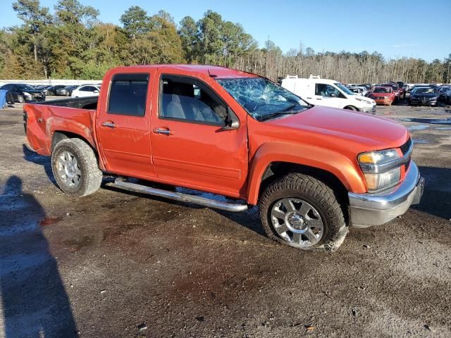
{"type": "MultiPolygon", "coordinates": [[[[364,172],[366,187],[369,191],[381,190],[400,182],[401,167],[384,170],[393,161],[400,158],[395,149],[370,151],[358,157],[360,168],[364,172]]],[[[388,169],[388,168],[387,168],[388,169]]]]}

